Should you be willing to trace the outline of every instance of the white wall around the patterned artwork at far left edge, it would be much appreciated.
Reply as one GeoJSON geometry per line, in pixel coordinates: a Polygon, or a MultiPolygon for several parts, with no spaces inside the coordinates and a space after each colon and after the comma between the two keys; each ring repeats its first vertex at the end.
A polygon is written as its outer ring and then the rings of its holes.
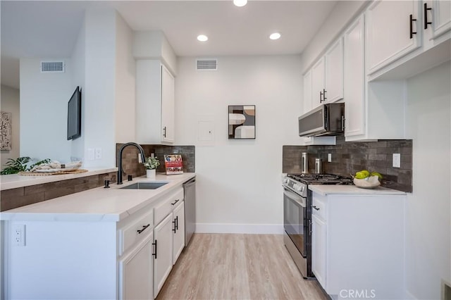
{"type": "Polygon", "coordinates": [[[8,161],[8,158],[16,159],[20,155],[20,112],[19,112],[19,90],[13,87],[1,85],[1,111],[11,113],[11,150],[1,151],[1,165],[8,161]]]}

